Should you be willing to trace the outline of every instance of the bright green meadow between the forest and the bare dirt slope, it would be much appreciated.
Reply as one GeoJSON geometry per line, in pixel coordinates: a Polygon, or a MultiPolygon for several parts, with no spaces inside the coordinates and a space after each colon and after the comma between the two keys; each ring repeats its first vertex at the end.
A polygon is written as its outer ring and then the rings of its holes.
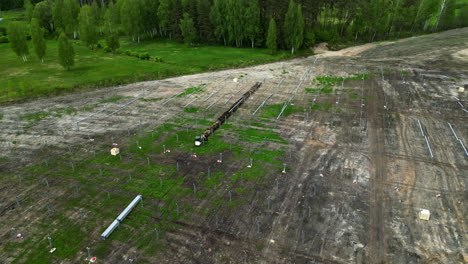
{"type": "MultiPolygon", "coordinates": [[[[31,43],[30,52],[33,52],[31,43]]],[[[140,60],[125,54],[90,50],[74,42],[75,66],[64,70],[58,64],[57,41],[47,41],[42,64],[34,54],[24,63],[10,48],[0,44],[0,102],[58,94],[75,89],[104,87],[142,80],[162,79],[230,67],[278,61],[287,52],[271,55],[266,49],[239,49],[219,46],[187,47],[175,41],[148,41],[140,44],[122,41],[121,50],[149,53],[162,62],[140,60]]]]}

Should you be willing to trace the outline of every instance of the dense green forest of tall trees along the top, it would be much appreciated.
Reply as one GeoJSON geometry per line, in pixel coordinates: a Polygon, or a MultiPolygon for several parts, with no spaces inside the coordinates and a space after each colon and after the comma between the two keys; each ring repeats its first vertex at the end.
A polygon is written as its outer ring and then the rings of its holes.
{"type": "Polygon", "coordinates": [[[466,0],[2,0],[0,8],[25,8],[46,37],[63,31],[90,47],[127,35],[294,51],[468,26],[466,0]]]}

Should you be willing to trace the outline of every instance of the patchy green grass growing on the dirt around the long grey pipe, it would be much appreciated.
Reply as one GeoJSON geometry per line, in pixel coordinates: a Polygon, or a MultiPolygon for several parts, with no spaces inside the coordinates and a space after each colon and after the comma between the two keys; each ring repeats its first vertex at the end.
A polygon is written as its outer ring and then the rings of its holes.
{"type": "MultiPolygon", "coordinates": [[[[198,121],[200,124],[211,123],[203,119],[198,121]]],[[[16,252],[12,263],[76,260],[86,246],[92,247],[93,254],[103,259],[111,253],[116,241],[128,243],[129,238],[137,234],[139,240],[134,246],[147,256],[154,256],[164,243],[155,238],[155,228],[160,232],[159,239],[164,239],[165,232],[181,228],[178,221],[190,221],[197,215],[212,215],[218,210],[235,210],[248,202],[246,197],[267,183],[267,175],[281,171],[283,150],[230,144],[224,135],[236,135],[249,144],[277,142],[285,146],[287,143],[283,138],[270,128],[239,128],[230,124],[224,125],[206,143],[206,147],[197,148],[196,152],[199,160],[214,159],[224,152],[223,162],[237,164],[236,169],[212,165],[212,173],[207,173],[204,167],[207,164],[197,165],[193,161],[193,168],[184,168],[181,162],[179,171],[177,157],[188,157],[193,150],[193,133],[181,124],[194,122],[194,119],[181,118],[138,136],[122,138],[119,146],[123,152],[119,156],[111,156],[107,151],[79,158],[65,154],[48,163],[40,162],[25,168],[23,184],[35,184],[36,179],[47,177],[50,182],[63,184],[60,188],[67,192],[56,201],[54,210],[47,212],[48,216],[38,222],[39,230],[34,235],[19,242],[9,241],[0,249],[16,252]],[[172,152],[163,154],[164,147],[172,149],[172,152]],[[254,166],[247,168],[250,159],[254,160],[254,166]],[[75,160],[73,169],[70,168],[70,160],[75,160]],[[186,174],[187,170],[189,174],[186,174]],[[196,190],[192,188],[193,184],[196,184],[196,190]],[[102,186],[111,192],[110,196],[102,186]],[[226,189],[232,191],[232,199],[219,192],[226,189]],[[135,194],[142,194],[147,205],[135,208],[110,239],[95,239],[135,194]],[[197,207],[201,201],[206,203],[197,207]],[[79,210],[88,213],[73,220],[69,218],[69,212],[79,210]],[[58,249],[53,255],[48,252],[47,236],[53,238],[53,245],[58,249]]],[[[102,139],[98,137],[96,140],[102,139]]],[[[87,144],[93,148],[94,143],[87,144]]],[[[150,262],[140,258],[138,263],[150,262]]]]}

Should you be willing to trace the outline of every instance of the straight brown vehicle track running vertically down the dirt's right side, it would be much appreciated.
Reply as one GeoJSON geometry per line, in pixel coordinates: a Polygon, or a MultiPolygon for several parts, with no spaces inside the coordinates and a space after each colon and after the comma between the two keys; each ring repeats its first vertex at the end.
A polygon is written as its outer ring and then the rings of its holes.
{"type": "Polygon", "coordinates": [[[376,81],[369,81],[370,89],[368,96],[368,122],[369,122],[369,148],[371,162],[371,185],[370,185],[370,239],[369,239],[369,261],[368,263],[381,264],[385,261],[385,215],[388,200],[385,199],[383,185],[378,184],[387,180],[387,159],[385,156],[385,120],[380,111],[383,105],[382,93],[376,81]]]}

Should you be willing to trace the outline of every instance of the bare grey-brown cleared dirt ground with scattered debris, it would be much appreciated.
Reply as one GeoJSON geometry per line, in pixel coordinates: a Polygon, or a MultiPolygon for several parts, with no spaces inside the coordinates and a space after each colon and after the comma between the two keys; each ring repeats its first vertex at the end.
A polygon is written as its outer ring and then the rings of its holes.
{"type": "MultiPolygon", "coordinates": [[[[467,49],[465,28],[1,106],[0,262],[24,262],[29,250],[11,228],[47,250],[47,234],[60,220],[50,218],[47,228],[39,223],[48,219],[52,206],[71,221],[90,226],[86,239],[92,248],[109,243],[99,263],[130,263],[129,258],[135,263],[467,263],[468,156],[460,142],[468,147],[468,92],[458,92],[468,84],[467,49]],[[325,87],[316,80],[355,76],[362,78],[335,82],[331,91],[320,90],[325,87]],[[206,125],[198,119],[214,121],[255,82],[263,82],[262,87],[228,124],[266,127],[287,144],[243,142],[234,132],[223,133],[222,141],[250,152],[281,149],[284,155],[277,159],[287,164],[287,173],[278,170],[265,175],[261,184],[252,181],[248,195],[217,186],[217,197],[244,203],[178,219],[179,228],[158,237],[156,253],[136,246],[139,235],[123,242],[112,236],[100,241],[112,219],[91,223],[87,212],[91,214],[92,202],[62,207],[61,201],[73,195],[73,178],[54,178],[47,188],[46,173],[34,172],[34,178],[24,172],[70,152],[74,170],[73,162],[92,151],[107,152],[112,142],[125,151],[135,134],[180,118],[193,120],[181,124],[181,130],[199,135],[206,125]],[[202,93],[176,96],[202,84],[202,93]],[[269,106],[288,101],[292,114],[265,117],[269,106]],[[262,102],[265,106],[253,115],[262,102]],[[188,107],[198,113],[184,111],[188,107]],[[418,218],[421,208],[430,210],[429,221],[418,218]]],[[[248,164],[229,149],[223,154],[227,162],[222,165],[216,164],[218,154],[192,160],[177,152],[157,162],[177,162],[184,185],[191,187],[207,167],[227,175],[248,164]]],[[[112,186],[96,187],[111,197],[137,194],[112,186]]],[[[208,203],[186,202],[196,209],[208,203]]],[[[145,203],[158,205],[156,200],[145,203]]],[[[122,209],[112,208],[115,216],[122,209]]],[[[153,220],[158,221],[157,213],[153,220]]],[[[86,263],[86,248],[76,252],[50,261],[86,263]]]]}

